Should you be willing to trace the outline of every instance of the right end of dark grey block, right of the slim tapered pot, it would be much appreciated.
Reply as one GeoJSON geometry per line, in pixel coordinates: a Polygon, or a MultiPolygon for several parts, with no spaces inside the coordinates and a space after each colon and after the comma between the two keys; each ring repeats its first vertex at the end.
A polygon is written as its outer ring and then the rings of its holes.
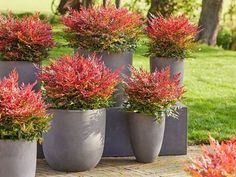
{"type": "Polygon", "coordinates": [[[188,114],[187,107],[182,103],[179,106],[178,119],[166,118],[164,140],[160,155],[185,155],[188,146],[188,114]]]}

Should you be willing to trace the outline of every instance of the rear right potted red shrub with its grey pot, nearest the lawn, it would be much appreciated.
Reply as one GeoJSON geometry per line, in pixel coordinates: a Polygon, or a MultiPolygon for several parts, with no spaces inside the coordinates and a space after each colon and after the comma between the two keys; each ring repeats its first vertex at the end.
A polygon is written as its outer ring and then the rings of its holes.
{"type": "Polygon", "coordinates": [[[146,33],[149,38],[148,54],[150,55],[151,72],[170,67],[170,77],[181,73],[183,83],[184,58],[193,45],[197,26],[182,16],[164,18],[159,15],[148,21],[146,33]]]}

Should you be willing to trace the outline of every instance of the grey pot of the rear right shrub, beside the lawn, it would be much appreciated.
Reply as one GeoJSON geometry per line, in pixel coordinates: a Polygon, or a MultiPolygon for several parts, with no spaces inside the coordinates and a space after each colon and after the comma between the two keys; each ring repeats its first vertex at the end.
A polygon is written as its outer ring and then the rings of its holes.
{"type": "Polygon", "coordinates": [[[181,73],[180,84],[183,85],[184,78],[184,59],[164,58],[164,57],[150,57],[150,70],[154,72],[155,69],[160,71],[167,66],[170,67],[170,78],[175,74],[181,73]]]}

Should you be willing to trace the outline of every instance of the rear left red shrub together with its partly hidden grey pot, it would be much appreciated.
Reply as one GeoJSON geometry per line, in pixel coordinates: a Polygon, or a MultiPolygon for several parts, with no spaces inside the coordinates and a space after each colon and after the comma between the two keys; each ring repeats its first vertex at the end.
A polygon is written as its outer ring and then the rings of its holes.
{"type": "Polygon", "coordinates": [[[34,83],[36,65],[47,58],[53,46],[52,26],[40,20],[39,14],[23,18],[0,16],[0,78],[15,68],[20,83],[34,83]]]}

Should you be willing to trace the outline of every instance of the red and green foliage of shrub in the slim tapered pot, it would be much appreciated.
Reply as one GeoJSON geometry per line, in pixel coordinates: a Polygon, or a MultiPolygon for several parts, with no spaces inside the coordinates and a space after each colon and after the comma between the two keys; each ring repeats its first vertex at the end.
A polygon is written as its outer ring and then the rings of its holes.
{"type": "Polygon", "coordinates": [[[180,86],[179,74],[170,79],[170,70],[149,73],[143,69],[131,68],[132,76],[124,83],[127,111],[144,113],[157,119],[163,111],[174,114],[172,106],[180,100],[184,89],[180,86]]]}

